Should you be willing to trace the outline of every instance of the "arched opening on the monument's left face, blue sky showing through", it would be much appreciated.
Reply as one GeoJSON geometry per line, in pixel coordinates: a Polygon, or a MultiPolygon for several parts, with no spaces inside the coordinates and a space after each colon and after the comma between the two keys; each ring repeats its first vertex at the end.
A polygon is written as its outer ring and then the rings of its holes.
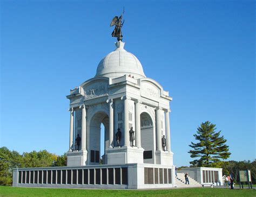
{"type": "Polygon", "coordinates": [[[105,164],[105,151],[109,146],[109,116],[105,112],[97,112],[91,118],[89,138],[90,165],[105,164]]]}

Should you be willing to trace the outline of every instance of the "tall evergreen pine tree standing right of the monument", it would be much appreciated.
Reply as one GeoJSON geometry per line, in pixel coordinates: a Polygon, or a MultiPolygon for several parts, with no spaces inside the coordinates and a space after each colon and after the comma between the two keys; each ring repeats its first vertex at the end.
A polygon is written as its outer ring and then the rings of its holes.
{"type": "Polygon", "coordinates": [[[192,166],[197,167],[210,167],[214,166],[214,163],[218,163],[220,159],[227,159],[230,157],[230,152],[228,152],[228,146],[225,144],[227,140],[224,136],[220,137],[220,131],[215,132],[215,124],[209,121],[201,123],[197,129],[197,134],[193,136],[198,143],[191,142],[190,150],[191,158],[199,158],[190,162],[192,166]]]}

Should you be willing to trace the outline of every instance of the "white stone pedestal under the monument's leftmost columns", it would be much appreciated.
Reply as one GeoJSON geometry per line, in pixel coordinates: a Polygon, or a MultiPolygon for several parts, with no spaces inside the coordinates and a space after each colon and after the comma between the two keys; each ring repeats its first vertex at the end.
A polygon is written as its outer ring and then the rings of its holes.
{"type": "Polygon", "coordinates": [[[85,161],[87,160],[87,151],[79,150],[79,151],[68,151],[66,153],[67,156],[67,166],[84,166],[85,161]]]}

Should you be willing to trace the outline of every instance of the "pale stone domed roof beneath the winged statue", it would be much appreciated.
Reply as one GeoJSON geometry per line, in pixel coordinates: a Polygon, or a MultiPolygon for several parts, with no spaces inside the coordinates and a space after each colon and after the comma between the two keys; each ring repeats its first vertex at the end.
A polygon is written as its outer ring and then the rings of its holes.
{"type": "Polygon", "coordinates": [[[99,62],[95,76],[106,76],[108,78],[117,78],[125,74],[131,74],[136,79],[145,78],[142,64],[130,52],[124,50],[124,43],[118,41],[116,50],[106,55],[99,62]]]}

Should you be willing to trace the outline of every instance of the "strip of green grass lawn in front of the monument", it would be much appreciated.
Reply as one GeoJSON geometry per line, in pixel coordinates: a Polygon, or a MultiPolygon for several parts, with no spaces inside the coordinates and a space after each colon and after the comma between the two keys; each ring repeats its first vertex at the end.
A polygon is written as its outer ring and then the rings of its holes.
{"type": "Polygon", "coordinates": [[[255,189],[227,188],[185,188],[185,189],[60,189],[60,188],[26,188],[0,186],[0,196],[256,196],[255,189]]]}

